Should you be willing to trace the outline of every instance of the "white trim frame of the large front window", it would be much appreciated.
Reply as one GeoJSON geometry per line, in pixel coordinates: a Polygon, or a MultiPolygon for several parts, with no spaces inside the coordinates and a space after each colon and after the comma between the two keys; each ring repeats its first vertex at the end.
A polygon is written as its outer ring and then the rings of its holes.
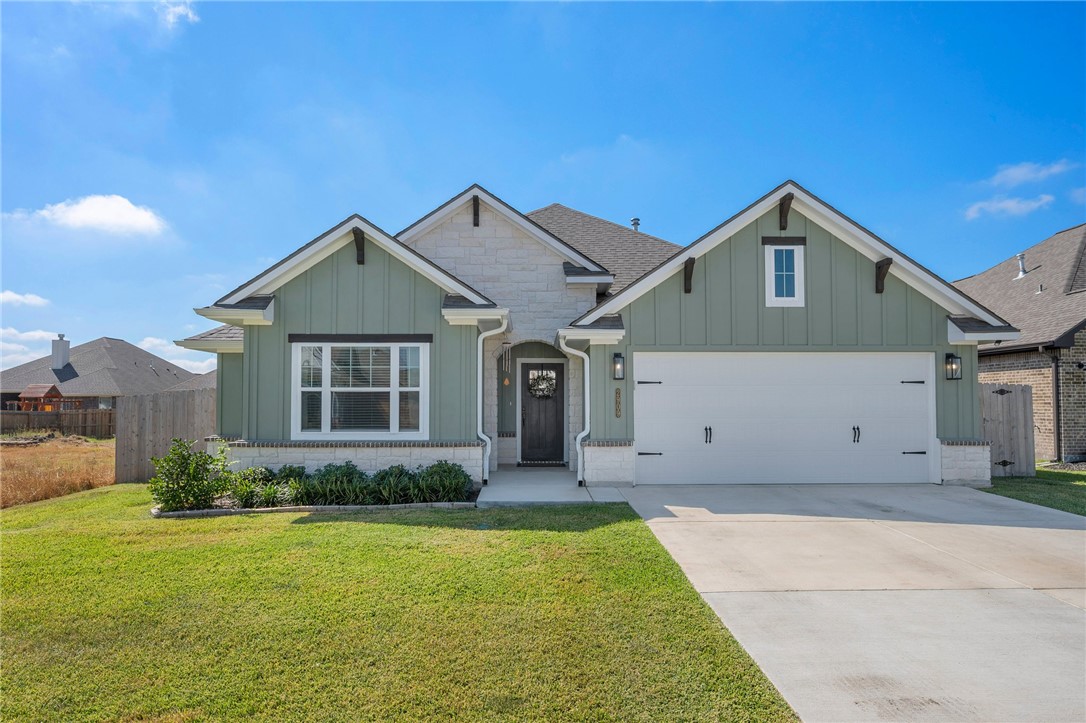
{"type": "MultiPolygon", "coordinates": [[[[351,391],[366,391],[354,389],[351,391]]],[[[384,388],[372,391],[384,391],[384,388]]],[[[414,391],[414,389],[409,390],[414,391]]],[[[340,440],[340,441],[381,441],[381,440],[429,440],[430,439],[430,344],[412,343],[342,343],[342,342],[294,342],[290,350],[290,439],[291,440],[340,440]],[[302,392],[313,392],[314,389],[302,389],[302,347],[320,346],[320,427],[327,432],[302,431],[302,392]],[[400,350],[404,346],[418,347],[418,431],[411,432],[375,432],[368,430],[350,430],[332,432],[331,430],[331,347],[352,346],[358,348],[390,350],[391,373],[389,388],[389,429],[400,427],[400,350]]]]}

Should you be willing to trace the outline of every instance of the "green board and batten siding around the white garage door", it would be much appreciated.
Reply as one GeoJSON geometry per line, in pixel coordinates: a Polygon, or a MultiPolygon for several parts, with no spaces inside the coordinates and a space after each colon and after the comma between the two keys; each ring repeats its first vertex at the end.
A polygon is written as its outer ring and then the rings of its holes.
{"type": "Polygon", "coordinates": [[[888,275],[874,290],[874,262],[792,211],[780,230],[776,208],[697,259],[691,293],[683,271],[621,310],[620,344],[593,346],[592,437],[633,440],[632,393],[640,352],[934,352],[936,433],[976,439],[976,347],[947,343],[947,310],[888,275]],[[767,307],[761,237],[806,236],[806,304],[767,307]],[[611,358],[627,359],[624,381],[611,379],[611,358]],[[943,358],[962,357],[962,379],[947,381],[943,358]],[[622,393],[621,417],[615,391],[622,393]]]}

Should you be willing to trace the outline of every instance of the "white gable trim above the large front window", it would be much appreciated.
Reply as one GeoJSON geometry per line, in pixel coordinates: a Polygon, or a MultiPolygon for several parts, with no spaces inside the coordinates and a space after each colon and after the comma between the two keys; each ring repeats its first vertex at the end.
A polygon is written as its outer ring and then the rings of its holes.
{"type": "MultiPolygon", "coordinates": [[[[492,304],[493,302],[464,283],[452,274],[443,270],[429,259],[415,253],[403,243],[374,226],[368,220],[355,214],[332,229],[321,233],[293,254],[270,267],[244,286],[220,299],[218,304],[236,304],[243,299],[256,294],[273,293],[291,279],[313,268],[318,263],[331,256],[343,246],[354,243],[353,229],[359,229],[367,240],[372,241],[394,258],[406,264],[424,277],[438,284],[451,294],[458,294],[476,304],[492,304]]],[[[199,312],[198,312],[199,313],[199,312]]],[[[205,315],[206,316],[206,315],[205,315]]]]}

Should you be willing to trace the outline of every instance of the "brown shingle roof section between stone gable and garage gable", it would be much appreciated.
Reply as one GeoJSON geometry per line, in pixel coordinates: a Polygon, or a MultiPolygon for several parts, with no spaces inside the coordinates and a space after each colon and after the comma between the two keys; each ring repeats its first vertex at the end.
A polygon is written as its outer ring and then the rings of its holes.
{"type": "Polygon", "coordinates": [[[634,231],[628,226],[560,203],[552,203],[526,215],[581,253],[603,264],[615,275],[613,292],[621,291],[681,249],[670,241],[634,231]]]}

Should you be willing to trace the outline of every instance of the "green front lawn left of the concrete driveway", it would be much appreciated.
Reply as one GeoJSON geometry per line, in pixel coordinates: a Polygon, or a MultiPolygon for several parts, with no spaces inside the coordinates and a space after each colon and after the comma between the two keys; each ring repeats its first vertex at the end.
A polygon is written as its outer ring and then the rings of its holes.
{"type": "Polygon", "coordinates": [[[14,720],[794,720],[626,505],[0,513],[14,720]]]}

